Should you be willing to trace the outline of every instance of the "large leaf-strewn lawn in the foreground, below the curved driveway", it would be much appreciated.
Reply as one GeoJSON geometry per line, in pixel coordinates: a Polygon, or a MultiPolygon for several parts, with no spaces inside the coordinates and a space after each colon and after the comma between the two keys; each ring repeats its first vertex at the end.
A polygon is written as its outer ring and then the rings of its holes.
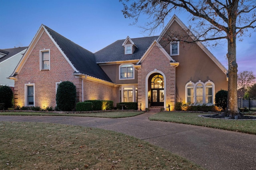
{"type": "Polygon", "coordinates": [[[0,169],[204,169],[148,142],[103,129],[0,122],[0,169]]]}

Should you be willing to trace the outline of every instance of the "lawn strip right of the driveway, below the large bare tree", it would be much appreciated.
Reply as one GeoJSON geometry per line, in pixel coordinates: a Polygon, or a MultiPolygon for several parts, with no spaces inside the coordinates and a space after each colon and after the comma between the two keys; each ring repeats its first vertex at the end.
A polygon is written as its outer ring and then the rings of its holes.
{"type": "Polygon", "coordinates": [[[149,119],[152,121],[184,123],[256,135],[256,120],[213,119],[199,117],[198,115],[203,114],[186,112],[160,112],[150,116],[149,119]]]}

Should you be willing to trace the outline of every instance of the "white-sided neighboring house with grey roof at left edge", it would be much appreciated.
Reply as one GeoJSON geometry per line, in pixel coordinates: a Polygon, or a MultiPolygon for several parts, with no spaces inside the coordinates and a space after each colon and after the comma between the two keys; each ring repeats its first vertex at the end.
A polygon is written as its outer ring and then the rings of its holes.
{"type": "Polygon", "coordinates": [[[0,86],[9,86],[14,89],[14,80],[7,77],[15,70],[27,48],[0,49],[0,86]]]}

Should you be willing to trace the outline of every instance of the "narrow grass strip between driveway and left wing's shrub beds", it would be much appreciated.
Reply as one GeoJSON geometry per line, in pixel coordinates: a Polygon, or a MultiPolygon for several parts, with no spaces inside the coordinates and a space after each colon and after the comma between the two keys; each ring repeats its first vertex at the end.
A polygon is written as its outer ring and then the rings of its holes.
{"type": "Polygon", "coordinates": [[[47,115],[47,116],[84,116],[84,117],[105,117],[121,118],[132,117],[144,113],[143,111],[106,111],[96,113],[47,113],[47,112],[0,112],[0,115],[47,115]]]}

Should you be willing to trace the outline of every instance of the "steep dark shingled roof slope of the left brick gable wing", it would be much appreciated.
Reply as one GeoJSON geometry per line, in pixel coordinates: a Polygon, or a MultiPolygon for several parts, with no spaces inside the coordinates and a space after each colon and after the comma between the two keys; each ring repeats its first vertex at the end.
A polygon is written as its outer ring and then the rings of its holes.
{"type": "Polygon", "coordinates": [[[63,37],[49,27],[45,25],[44,27],[59,45],[66,57],[68,57],[70,62],[78,70],[78,73],[112,82],[102,68],[96,63],[93,53],[70,41],[66,37],[63,37]]]}

